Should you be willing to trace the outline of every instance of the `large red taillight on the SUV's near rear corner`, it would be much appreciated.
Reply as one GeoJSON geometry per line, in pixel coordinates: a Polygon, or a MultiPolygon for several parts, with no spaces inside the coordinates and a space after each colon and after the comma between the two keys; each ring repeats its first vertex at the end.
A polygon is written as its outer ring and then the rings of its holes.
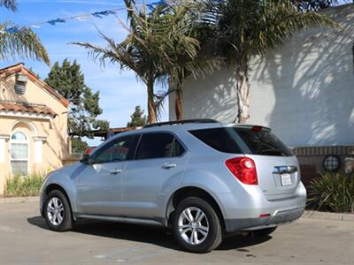
{"type": "Polygon", "coordinates": [[[244,184],[258,185],[256,163],[250,157],[235,157],[226,162],[227,169],[244,184]]]}

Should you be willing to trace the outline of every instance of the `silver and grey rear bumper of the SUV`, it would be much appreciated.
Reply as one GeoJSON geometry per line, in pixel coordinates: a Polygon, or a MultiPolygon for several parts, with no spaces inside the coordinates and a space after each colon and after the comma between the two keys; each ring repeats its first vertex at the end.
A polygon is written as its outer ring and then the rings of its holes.
{"type": "Polygon", "coordinates": [[[272,201],[266,199],[258,186],[218,195],[227,232],[257,230],[295,221],[303,215],[307,201],[301,182],[291,197],[272,201]]]}

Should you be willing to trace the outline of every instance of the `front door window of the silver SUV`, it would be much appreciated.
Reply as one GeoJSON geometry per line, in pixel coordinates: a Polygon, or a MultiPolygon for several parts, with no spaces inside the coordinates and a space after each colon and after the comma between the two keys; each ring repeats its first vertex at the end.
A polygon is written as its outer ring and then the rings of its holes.
{"type": "Polygon", "coordinates": [[[135,152],[137,135],[112,140],[93,155],[94,163],[110,163],[132,159],[135,152]]]}

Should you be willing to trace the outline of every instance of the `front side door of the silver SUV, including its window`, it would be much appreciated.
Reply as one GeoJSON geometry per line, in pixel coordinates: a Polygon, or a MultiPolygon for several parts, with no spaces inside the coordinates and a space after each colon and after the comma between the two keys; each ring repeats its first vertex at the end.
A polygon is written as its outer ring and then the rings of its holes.
{"type": "Polygon", "coordinates": [[[119,137],[92,154],[91,163],[77,177],[77,207],[80,214],[120,216],[122,176],[135,154],[138,135],[119,137]]]}

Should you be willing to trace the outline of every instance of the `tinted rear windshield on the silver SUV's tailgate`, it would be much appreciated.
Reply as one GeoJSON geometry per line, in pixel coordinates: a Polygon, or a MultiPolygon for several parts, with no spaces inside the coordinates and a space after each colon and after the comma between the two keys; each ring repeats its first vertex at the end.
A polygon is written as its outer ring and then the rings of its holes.
{"type": "Polygon", "coordinates": [[[255,132],[250,129],[233,128],[250,148],[253,155],[291,156],[292,153],[281,140],[269,130],[255,132]]]}

